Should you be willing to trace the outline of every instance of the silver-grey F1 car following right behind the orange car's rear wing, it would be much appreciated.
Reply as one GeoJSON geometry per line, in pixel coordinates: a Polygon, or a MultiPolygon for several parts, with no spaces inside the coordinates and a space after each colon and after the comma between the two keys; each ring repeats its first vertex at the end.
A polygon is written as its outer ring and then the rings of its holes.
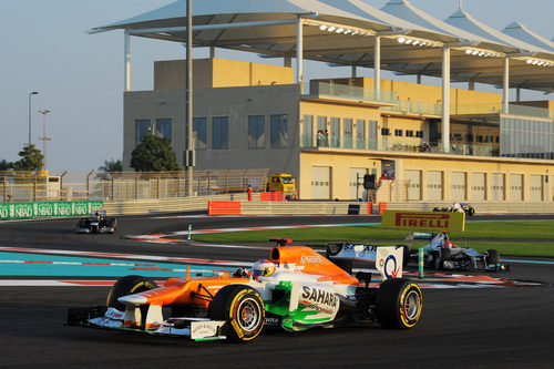
{"type": "MultiPolygon", "coordinates": [[[[413,233],[413,239],[430,239],[422,246],[425,266],[434,269],[485,269],[490,271],[507,270],[495,249],[479,253],[474,248],[459,247],[449,239],[448,232],[413,233]]],[[[410,258],[418,259],[418,250],[412,250],[410,258]]]]}

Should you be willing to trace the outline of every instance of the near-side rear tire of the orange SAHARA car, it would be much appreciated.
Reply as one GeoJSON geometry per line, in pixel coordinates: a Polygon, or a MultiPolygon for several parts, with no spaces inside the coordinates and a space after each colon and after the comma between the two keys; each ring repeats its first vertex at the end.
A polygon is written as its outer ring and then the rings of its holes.
{"type": "Polygon", "coordinates": [[[422,308],[421,289],[409,279],[386,279],[377,290],[376,317],[383,328],[413,328],[421,317],[422,308]]]}

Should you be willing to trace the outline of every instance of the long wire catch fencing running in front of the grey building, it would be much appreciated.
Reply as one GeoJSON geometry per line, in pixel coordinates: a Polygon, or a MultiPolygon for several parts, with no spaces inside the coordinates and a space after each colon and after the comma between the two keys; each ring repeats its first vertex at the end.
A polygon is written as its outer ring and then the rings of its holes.
{"type": "Polygon", "coordinates": [[[269,170],[177,172],[0,172],[0,203],[141,201],[264,192],[269,170]]]}

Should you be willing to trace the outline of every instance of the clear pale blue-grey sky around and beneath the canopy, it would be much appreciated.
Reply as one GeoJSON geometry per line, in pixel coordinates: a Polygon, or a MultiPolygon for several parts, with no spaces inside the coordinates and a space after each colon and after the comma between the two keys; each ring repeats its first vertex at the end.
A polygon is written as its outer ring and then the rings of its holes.
{"type": "MultiPolygon", "coordinates": [[[[193,0],[193,7],[194,7],[193,0]]],[[[225,0],[232,1],[232,0],[225,0]]],[[[376,8],[388,0],[366,0],[376,8]]],[[[173,0],[0,0],[0,161],[19,160],[29,141],[42,150],[45,115],[48,168],[98,170],[105,160],[121,160],[123,152],[123,31],[88,34],[110,24],[172,3],[173,0]],[[29,93],[31,110],[29,110],[29,93]]],[[[417,8],[444,20],[458,10],[459,0],[411,0],[417,8]]],[[[548,39],[554,37],[553,0],[463,0],[463,10],[497,30],[514,20],[548,39]]],[[[153,89],[155,60],[184,59],[179,43],[131,39],[131,89],[153,89]]],[[[208,51],[195,49],[194,58],[208,51]]],[[[216,50],[217,58],[278,63],[253,54],[216,50]]],[[[349,76],[350,68],[306,62],[305,80],[349,76]]],[[[372,76],[358,69],[358,76],[372,76]]],[[[391,75],[383,73],[383,79],[391,75]]],[[[394,76],[394,79],[399,79],[394,76]]],[[[407,81],[414,82],[414,78],[407,81]],[[413,81],[412,81],[413,80],[413,81]]],[[[423,83],[437,81],[423,79],[423,83]]],[[[455,85],[454,85],[455,86],[455,85]]],[[[480,89],[479,86],[476,88],[480,89]]],[[[483,91],[488,91],[482,86],[483,91]]],[[[490,89],[490,88],[489,88],[490,89]]],[[[490,90],[500,92],[499,90],[490,90]]],[[[512,98],[515,92],[511,92],[512,98]]],[[[522,99],[554,100],[552,94],[523,92],[522,99]]]]}

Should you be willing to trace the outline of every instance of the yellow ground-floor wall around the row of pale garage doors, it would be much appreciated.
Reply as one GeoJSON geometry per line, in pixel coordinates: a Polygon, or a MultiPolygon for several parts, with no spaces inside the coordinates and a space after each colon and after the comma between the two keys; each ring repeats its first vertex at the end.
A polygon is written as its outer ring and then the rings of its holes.
{"type": "MultiPolygon", "coordinates": [[[[546,202],[554,202],[554,185],[550,185],[544,181],[544,177],[554,173],[554,163],[546,161],[532,160],[499,160],[499,158],[474,158],[468,156],[454,155],[427,155],[419,157],[412,155],[402,155],[399,153],[384,152],[367,152],[359,154],[355,152],[302,152],[300,154],[300,176],[299,176],[299,196],[302,199],[311,198],[311,167],[312,166],[329,166],[331,167],[331,188],[329,198],[351,199],[350,197],[350,168],[367,168],[368,173],[381,173],[381,160],[390,160],[396,162],[396,185],[397,187],[406,186],[406,171],[421,171],[422,183],[420,201],[427,198],[427,174],[429,172],[441,172],[442,175],[442,201],[469,201],[471,202],[472,194],[472,175],[480,173],[485,178],[485,201],[492,201],[491,196],[491,178],[493,174],[504,175],[503,199],[506,202],[521,202],[519,198],[510,198],[510,175],[523,175],[523,202],[531,199],[530,176],[543,176],[543,197],[546,202]],[[466,198],[452,198],[451,182],[452,172],[466,173],[466,198]]],[[[552,176],[554,178],[554,176],[552,176]]],[[[361,189],[361,187],[360,187],[361,189]]],[[[397,201],[406,201],[406,193],[400,191],[400,194],[394,195],[397,201]]],[[[388,198],[378,198],[378,201],[389,201],[388,198]]]]}

